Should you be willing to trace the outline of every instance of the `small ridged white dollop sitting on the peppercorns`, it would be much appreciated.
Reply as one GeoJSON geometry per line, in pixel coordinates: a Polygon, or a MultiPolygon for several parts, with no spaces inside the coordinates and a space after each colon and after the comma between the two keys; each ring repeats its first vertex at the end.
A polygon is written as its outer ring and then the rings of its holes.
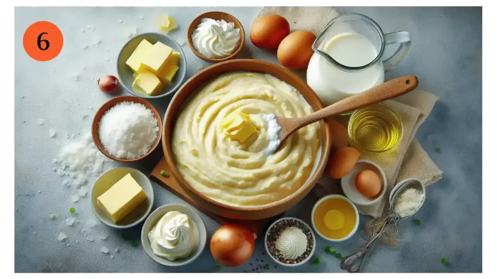
{"type": "Polygon", "coordinates": [[[276,249],[283,257],[295,260],[306,252],[307,236],[297,227],[287,227],[276,239],[276,249]]]}

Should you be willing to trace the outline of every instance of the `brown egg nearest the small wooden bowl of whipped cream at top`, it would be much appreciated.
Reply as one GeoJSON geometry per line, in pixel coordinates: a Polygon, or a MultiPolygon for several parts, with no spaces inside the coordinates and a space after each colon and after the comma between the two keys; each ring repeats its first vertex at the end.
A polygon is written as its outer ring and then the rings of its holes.
{"type": "Polygon", "coordinates": [[[257,18],[250,26],[250,41],[260,49],[276,49],[290,33],[290,23],[277,14],[257,18]]]}

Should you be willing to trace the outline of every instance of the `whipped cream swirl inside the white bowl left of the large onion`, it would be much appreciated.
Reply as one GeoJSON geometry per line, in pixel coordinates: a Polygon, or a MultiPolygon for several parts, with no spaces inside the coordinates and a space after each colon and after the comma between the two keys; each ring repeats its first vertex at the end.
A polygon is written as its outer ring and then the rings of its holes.
{"type": "Polygon", "coordinates": [[[190,256],[200,242],[195,222],[179,211],[167,212],[148,237],[154,254],[169,261],[190,256]]]}

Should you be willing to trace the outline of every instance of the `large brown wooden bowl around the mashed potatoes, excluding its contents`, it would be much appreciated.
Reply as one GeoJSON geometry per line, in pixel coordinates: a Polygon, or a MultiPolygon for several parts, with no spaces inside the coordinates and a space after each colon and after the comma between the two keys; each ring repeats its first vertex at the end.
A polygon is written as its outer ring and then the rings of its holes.
{"type": "Polygon", "coordinates": [[[176,117],[181,111],[182,105],[187,102],[187,99],[191,96],[191,94],[195,93],[196,89],[217,75],[232,71],[251,71],[271,74],[295,87],[312,106],[314,111],[318,111],[323,108],[319,97],[316,93],[314,93],[311,87],[309,87],[309,85],[307,85],[307,83],[295,73],[283,67],[265,61],[251,59],[235,59],[207,67],[190,77],[178,89],[176,94],[174,94],[174,97],[167,107],[164,126],[162,129],[162,145],[164,147],[165,160],[168,168],[166,171],[169,171],[169,173],[172,174],[170,176],[171,179],[168,179],[168,184],[171,184],[171,187],[180,186],[189,195],[189,197],[194,200],[199,208],[209,210],[217,215],[232,219],[253,220],[269,218],[293,207],[311,191],[314,185],[321,178],[330,155],[330,128],[325,121],[320,121],[322,138],[321,160],[318,163],[316,171],[307,183],[286,199],[267,206],[249,208],[225,205],[206,197],[191,187],[176,168],[171,149],[172,130],[176,117]]]}

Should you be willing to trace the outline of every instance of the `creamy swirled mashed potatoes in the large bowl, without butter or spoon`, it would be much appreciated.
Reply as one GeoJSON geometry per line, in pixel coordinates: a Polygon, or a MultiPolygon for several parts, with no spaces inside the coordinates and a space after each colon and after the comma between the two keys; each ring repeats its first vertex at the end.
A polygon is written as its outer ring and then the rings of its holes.
{"type": "Polygon", "coordinates": [[[308,125],[283,142],[274,154],[264,114],[301,117],[312,108],[300,93],[278,78],[232,72],[202,86],[174,125],[172,152],[184,179],[197,191],[222,204],[265,206],[300,189],[321,155],[319,123],[308,125]],[[223,132],[222,121],[238,111],[250,116],[256,131],[240,142],[223,132]]]}

